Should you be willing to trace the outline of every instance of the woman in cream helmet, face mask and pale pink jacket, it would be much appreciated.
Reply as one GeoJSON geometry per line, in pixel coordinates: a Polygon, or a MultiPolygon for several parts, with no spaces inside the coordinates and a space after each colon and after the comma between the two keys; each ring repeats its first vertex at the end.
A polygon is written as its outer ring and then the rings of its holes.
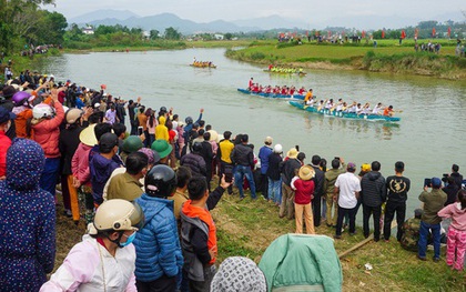
{"type": "Polygon", "coordinates": [[[136,291],[132,241],[144,222],[138,204],[114,199],[103,202],[63,264],[40,291],[136,291]]]}

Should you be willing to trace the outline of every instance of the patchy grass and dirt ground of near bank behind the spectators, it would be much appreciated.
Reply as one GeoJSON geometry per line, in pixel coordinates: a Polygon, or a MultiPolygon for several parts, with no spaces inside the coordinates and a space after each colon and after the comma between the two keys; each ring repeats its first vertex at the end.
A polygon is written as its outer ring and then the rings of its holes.
{"type": "MultiPolygon", "coordinates": [[[[217,228],[219,264],[227,256],[243,255],[259,263],[261,255],[277,236],[294,232],[294,221],[278,218],[278,209],[261,198],[242,201],[237,195],[224,194],[212,211],[217,228]]],[[[362,211],[359,210],[359,217],[362,211]]],[[[83,222],[75,226],[59,211],[57,224],[55,269],[62,263],[69,250],[80,241],[84,232],[83,222]]],[[[316,229],[318,234],[333,236],[335,230],[323,223],[316,229]]],[[[358,229],[355,236],[343,233],[335,241],[335,250],[341,253],[364,240],[358,229]]],[[[464,273],[447,268],[443,260],[432,261],[433,251],[427,252],[427,261],[417,260],[416,253],[403,250],[396,239],[389,242],[371,241],[361,249],[341,259],[344,291],[465,291],[464,273]],[[365,263],[373,265],[366,271],[365,263]]]]}

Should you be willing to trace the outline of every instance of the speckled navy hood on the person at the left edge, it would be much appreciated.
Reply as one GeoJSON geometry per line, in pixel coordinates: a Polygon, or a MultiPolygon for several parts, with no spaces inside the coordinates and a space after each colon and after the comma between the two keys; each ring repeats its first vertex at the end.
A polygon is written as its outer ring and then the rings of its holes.
{"type": "Polygon", "coordinates": [[[7,184],[18,191],[37,189],[44,165],[45,155],[36,141],[13,139],[7,152],[7,184]]]}

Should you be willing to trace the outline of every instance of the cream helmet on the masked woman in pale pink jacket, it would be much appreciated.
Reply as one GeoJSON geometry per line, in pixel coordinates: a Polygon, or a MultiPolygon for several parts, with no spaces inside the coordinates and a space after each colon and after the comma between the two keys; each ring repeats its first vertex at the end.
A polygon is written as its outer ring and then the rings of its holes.
{"type": "Polygon", "coordinates": [[[113,199],[103,202],[95,212],[94,223],[88,225],[89,234],[99,231],[138,231],[144,224],[144,213],[139,204],[113,199]]]}

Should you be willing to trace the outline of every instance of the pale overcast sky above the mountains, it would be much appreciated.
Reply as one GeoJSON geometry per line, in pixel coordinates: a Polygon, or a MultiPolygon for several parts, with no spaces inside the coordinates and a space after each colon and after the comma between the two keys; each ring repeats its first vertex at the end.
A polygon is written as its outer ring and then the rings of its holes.
{"type": "Polygon", "coordinates": [[[272,14],[296,18],[306,23],[359,16],[397,16],[429,20],[447,12],[466,10],[466,0],[55,0],[55,9],[45,9],[57,10],[67,19],[99,9],[115,9],[130,10],[141,17],[171,12],[196,22],[217,19],[231,21],[272,14]]]}

